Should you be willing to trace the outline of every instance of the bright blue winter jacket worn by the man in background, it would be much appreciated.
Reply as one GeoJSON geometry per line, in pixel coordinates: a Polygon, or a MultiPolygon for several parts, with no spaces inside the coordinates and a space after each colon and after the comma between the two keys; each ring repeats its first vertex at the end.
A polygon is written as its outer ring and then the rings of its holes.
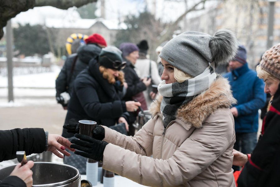
{"type": "Polygon", "coordinates": [[[224,77],[228,78],[233,97],[237,100],[237,104],[232,106],[238,110],[238,117],[234,117],[235,132],[258,132],[258,110],[264,107],[266,101],[264,81],[249,69],[247,63],[224,77]]]}

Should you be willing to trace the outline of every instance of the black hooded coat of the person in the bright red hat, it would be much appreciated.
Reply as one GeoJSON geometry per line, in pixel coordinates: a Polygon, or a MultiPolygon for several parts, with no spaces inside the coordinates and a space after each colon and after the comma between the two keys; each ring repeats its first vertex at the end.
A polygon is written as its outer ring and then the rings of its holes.
{"type": "Polygon", "coordinates": [[[77,53],[70,55],[66,59],[57,79],[55,80],[56,97],[63,92],[68,92],[71,95],[74,79],[88,66],[91,59],[96,58],[99,55],[100,51],[101,48],[96,44],[87,44],[85,46],[80,46],[77,53]],[[75,60],[76,64],[71,74],[72,64],[75,60]]]}

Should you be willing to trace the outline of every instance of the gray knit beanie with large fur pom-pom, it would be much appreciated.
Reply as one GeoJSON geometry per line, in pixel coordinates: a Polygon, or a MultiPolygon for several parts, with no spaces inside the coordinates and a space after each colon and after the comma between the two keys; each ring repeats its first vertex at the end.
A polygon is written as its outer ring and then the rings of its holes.
{"type": "Polygon", "coordinates": [[[228,64],[237,49],[238,42],[231,30],[221,29],[213,36],[187,31],[167,42],[159,56],[195,77],[203,73],[209,63],[214,62],[216,67],[228,64]]]}

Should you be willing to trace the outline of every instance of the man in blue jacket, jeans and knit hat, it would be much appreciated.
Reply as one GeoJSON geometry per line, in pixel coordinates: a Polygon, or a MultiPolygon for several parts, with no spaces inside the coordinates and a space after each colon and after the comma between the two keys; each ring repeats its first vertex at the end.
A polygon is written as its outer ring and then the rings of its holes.
{"type": "Polygon", "coordinates": [[[251,153],[257,144],[258,110],[264,107],[266,101],[264,81],[249,69],[246,59],[246,49],[240,45],[235,58],[229,63],[231,72],[224,75],[230,81],[233,97],[237,100],[231,108],[236,132],[234,149],[244,154],[251,153]]]}

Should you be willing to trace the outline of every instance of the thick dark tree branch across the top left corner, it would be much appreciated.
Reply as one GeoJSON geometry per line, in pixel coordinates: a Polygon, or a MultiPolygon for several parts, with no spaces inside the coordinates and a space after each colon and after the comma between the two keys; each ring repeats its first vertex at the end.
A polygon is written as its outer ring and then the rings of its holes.
{"type": "Polygon", "coordinates": [[[81,7],[90,2],[97,2],[97,0],[0,0],[0,39],[3,37],[3,27],[6,26],[7,21],[30,8],[52,6],[68,9],[73,6],[81,7]]]}

